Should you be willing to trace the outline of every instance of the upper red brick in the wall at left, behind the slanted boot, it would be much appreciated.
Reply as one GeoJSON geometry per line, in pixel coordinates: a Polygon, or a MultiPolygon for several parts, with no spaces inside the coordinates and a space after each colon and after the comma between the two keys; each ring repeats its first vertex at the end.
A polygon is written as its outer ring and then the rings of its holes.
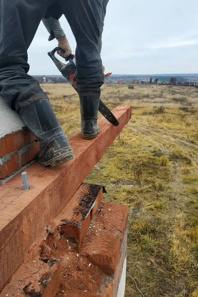
{"type": "Polygon", "coordinates": [[[0,156],[5,156],[10,152],[22,148],[32,143],[35,139],[27,128],[8,134],[0,139],[0,156]]]}

